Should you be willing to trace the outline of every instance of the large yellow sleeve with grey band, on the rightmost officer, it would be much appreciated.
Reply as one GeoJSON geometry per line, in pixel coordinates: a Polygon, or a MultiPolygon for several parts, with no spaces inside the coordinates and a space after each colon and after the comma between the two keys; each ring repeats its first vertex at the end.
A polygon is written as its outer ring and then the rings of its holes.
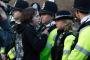
{"type": "Polygon", "coordinates": [[[84,27],[80,33],[78,42],[71,51],[68,60],[87,60],[90,55],[90,26],[84,27]]]}

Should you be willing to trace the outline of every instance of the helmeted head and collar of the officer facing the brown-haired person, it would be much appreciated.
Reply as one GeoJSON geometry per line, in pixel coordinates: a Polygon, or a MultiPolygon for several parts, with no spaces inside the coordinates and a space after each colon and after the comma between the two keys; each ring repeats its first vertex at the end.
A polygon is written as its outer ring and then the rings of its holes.
{"type": "Polygon", "coordinates": [[[47,27],[54,25],[55,22],[52,22],[55,13],[57,12],[57,5],[54,2],[46,1],[40,11],[41,23],[38,32],[44,31],[47,27]],[[51,23],[52,22],[52,23],[51,23]]]}

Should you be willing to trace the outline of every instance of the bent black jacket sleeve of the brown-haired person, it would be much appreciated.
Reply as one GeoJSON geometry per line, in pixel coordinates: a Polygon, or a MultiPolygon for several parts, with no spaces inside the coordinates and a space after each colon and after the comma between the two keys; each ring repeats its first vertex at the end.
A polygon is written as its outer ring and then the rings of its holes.
{"type": "Polygon", "coordinates": [[[47,35],[43,34],[41,38],[39,38],[36,34],[35,29],[28,29],[26,28],[23,32],[23,36],[28,41],[28,44],[32,46],[34,51],[40,52],[45,47],[47,41],[47,35]]]}

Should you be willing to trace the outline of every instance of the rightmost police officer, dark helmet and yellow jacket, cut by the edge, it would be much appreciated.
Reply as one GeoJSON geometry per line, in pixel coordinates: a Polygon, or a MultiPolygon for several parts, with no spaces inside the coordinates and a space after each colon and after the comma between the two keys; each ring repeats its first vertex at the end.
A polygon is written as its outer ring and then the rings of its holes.
{"type": "Polygon", "coordinates": [[[90,60],[90,0],[75,0],[74,9],[81,26],[68,60],[90,60]]]}

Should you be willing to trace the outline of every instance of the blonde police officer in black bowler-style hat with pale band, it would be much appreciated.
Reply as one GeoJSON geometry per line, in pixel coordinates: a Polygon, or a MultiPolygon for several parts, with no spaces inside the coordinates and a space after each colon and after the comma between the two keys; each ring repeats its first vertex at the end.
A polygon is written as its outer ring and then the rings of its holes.
{"type": "Polygon", "coordinates": [[[64,47],[71,47],[74,40],[73,36],[73,16],[69,11],[62,10],[58,11],[55,16],[55,22],[57,27],[57,35],[55,37],[54,46],[51,49],[52,60],[61,60],[64,52],[68,49],[64,49],[64,47]],[[66,42],[67,41],[67,42],[66,42]],[[64,46],[69,44],[67,46],[64,46]]]}

